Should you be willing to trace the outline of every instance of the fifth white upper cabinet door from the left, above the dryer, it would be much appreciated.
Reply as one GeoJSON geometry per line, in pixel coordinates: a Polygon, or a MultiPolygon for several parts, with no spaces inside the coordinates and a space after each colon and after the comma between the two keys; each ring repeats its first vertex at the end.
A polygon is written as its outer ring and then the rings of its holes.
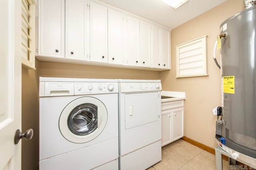
{"type": "Polygon", "coordinates": [[[128,65],[140,65],[140,21],[127,17],[128,65]]]}

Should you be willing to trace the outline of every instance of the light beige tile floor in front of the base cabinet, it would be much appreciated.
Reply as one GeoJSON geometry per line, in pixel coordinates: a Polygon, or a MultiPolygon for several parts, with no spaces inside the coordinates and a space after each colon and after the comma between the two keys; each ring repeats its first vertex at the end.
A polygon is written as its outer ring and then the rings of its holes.
{"type": "MultiPolygon", "coordinates": [[[[222,160],[223,170],[230,170],[222,160]]],[[[182,139],[162,148],[162,160],[147,170],[216,170],[215,155],[182,139]]]]}

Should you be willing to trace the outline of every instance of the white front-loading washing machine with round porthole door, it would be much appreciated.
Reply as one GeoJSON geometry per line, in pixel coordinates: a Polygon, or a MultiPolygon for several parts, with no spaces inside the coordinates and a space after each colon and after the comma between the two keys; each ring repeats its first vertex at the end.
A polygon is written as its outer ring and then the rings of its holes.
{"type": "Polygon", "coordinates": [[[40,77],[40,170],[118,170],[118,83],[40,77]]]}

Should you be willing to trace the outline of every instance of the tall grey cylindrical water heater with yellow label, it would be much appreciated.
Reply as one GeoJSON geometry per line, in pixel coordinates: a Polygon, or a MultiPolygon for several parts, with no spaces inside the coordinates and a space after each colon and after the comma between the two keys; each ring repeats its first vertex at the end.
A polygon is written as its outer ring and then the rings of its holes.
{"type": "Polygon", "coordinates": [[[224,21],[218,40],[223,109],[216,138],[226,152],[256,159],[256,6],[224,21]]]}

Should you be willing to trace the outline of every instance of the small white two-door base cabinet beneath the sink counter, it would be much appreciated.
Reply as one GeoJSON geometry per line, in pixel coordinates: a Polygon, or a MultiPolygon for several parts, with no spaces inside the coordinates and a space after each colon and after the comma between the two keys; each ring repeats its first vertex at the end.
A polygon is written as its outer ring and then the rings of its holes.
{"type": "Polygon", "coordinates": [[[184,100],[162,103],[162,146],[184,136],[184,100]]]}

